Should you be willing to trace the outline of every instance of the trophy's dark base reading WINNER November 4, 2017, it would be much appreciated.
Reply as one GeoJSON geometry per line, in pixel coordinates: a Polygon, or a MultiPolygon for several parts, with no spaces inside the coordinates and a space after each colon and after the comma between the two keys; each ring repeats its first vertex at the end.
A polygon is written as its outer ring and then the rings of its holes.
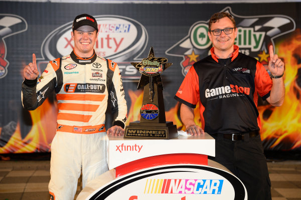
{"type": "Polygon", "coordinates": [[[178,129],[172,121],[166,123],[130,122],[125,127],[123,136],[127,139],[172,139],[175,137],[178,137],[178,129]]]}

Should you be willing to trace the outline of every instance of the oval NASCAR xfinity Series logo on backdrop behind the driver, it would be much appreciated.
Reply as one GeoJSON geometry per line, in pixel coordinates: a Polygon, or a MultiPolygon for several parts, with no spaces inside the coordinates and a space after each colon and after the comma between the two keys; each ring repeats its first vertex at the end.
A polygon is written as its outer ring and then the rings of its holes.
{"type": "MultiPolygon", "coordinates": [[[[98,56],[118,63],[123,81],[139,80],[139,72],[130,64],[143,53],[148,41],[146,29],[137,21],[115,15],[94,16],[98,24],[98,38],[94,49],[98,56]]],[[[52,31],[43,41],[45,63],[69,55],[74,42],[71,39],[73,21],[52,31]],[[55,45],[54,45],[55,44],[55,45]]],[[[46,67],[46,66],[45,66],[46,67]]],[[[94,68],[101,65],[94,64],[94,68]]]]}

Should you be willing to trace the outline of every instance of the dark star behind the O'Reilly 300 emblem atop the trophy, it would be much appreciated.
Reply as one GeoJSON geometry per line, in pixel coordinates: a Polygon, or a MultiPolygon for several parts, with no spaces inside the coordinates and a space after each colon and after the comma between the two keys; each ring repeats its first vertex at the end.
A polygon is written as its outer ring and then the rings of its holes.
{"type": "MultiPolygon", "coordinates": [[[[148,57],[146,58],[146,60],[152,60],[152,59],[157,59],[155,57],[153,47],[150,48],[149,53],[148,53],[148,57]]],[[[166,62],[167,62],[167,59],[166,59],[166,62]]],[[[142,61],[138,62],[138,63],[137,62],[132,62],[130,64],[132,64],[132,66],[134,66],[139,72],[140,72],[140,67],[143,66],[142,61]]],[[[163,65],[163,71],[164,71],[167,68],[169,68],[170,66],[172,66],[173,63],[163,63],[162,65],[163,65]]],[[[144,87],[146,84],[148,84],[149,79],[153,79],[153,83],[157,84],[159,87],[162,87],[162,89],[163,89],[161,74],[158,74],[156,76],[146,76],[146,75],[141,73],[141,77],[140,77],[140,80],[139,80],[139,83],[138,83],[137,90],[144,87]]]]}

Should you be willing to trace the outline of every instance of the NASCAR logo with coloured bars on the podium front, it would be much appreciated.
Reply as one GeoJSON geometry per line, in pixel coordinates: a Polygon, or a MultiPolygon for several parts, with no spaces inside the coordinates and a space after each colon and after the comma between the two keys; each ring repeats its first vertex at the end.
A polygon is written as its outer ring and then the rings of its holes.
{"type": "Polygon", "coordinates": [[[147,179],[144,193],[221,194],[222,179],[147,179]]]}

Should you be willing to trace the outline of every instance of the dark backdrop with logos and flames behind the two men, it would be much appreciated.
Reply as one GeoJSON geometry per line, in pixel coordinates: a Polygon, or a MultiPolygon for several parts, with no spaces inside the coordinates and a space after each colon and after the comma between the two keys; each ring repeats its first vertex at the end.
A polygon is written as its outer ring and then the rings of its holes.
{"type": "MultiPolygon", "coordinates": [[[[261,139],[265,150],[301,150],[301,3],[169,4],[156,2],[51,3],[0,2],[0,154],[49,152],[56,129],[55,95],[34,111],[22,108],[23,68],[32,53],[42,73],[50,60],[73,49],[72,22],[83,13],[99,24],[95,50],[118,63],[128,107],[128,122],[140,119],[142,90],[140,73],[130,64],[148,56],[173,65],[162,75],[167,121],[185,130],[180,104],[174,95],[192,64],[208,55],[212,44],[207,36],[212,14],[226,11],[234,16],[240,51],[269,60],[268,46],[285,62],[285,100],[273,107],[259,100],[261,139]]],[[[198,106],[197,106],[198,108],[198,106]]],[[[195,109],[196,122],[200,113],[195,109]]]]}

